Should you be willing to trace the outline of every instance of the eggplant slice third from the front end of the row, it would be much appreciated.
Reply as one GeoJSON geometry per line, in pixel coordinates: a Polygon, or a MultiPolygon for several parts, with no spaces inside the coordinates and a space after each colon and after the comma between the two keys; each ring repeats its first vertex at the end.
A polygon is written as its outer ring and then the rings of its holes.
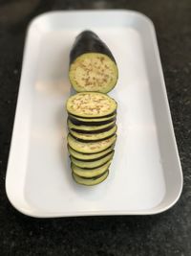
{"type": "Polygon", "coordinates": [[[106,162],[111,160],[114,156],[114,151],[112,151],[110,154],[102,157],[99,160],[93,160],[93,161],[83,161],[83,160],[77,160],[71,155],[71,161],[74,163],[74,165],[84,168],[84,169],[93,169],[97,167],[101,167],[104,165],[106,162]]]}

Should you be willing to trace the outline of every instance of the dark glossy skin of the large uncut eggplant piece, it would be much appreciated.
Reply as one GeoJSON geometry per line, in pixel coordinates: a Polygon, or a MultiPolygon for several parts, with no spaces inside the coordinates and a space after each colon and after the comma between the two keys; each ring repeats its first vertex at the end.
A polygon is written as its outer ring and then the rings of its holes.
{"type": "Polygon", "coordinates": [[[87,53],[103,54],[117,63],[108,46],[98,37],[98,35],[96,35],[96,33],[89,30],[83,31],[75,37],[70,54],[70,64],[74,62],[75,58],[87,53]]]}

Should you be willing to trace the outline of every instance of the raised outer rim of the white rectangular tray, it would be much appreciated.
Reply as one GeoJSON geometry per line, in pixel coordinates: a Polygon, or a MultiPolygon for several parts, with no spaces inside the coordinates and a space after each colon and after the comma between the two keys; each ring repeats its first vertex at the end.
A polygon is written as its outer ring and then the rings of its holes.
{"type": "Polygon", "coordinates": [[[19,90],[18,90],[18,96],[17,96],[17,104],[16,104],[16,109],[15,109],[15,115],[14,115],[14,122],[13,122],[13,128],[12,128],[12,135],[11,135],[11,147],[10,147],[10,153],[9,153],[9,159],[8,159],[8,165],[7,165],[7,173],[6,173],[6,182],[5,182],[5,188],[6,188],[6,194],[7,197],[9,198],[11,205],[18,210],[19,212],[21,212],[22,214],[25,214],[27,216],[33,217],[33,218],[60,218],[60,217],[85,217],[85,216],[135,216],[135,215],[156,215],[159,213],[162,213],[168,209],[170,209],[171,207],[173,207],[177,201],[180,198],[181,192],[182,192],[182,187],[183,187],[183,174],[182,174],[182,169],[181,169],[181,165],[180,165],[180,156],[179,156],[179,151],[178,151],[178,145],[176,142],[176,137],[175,137],[175,132],[174,132],[174,128],[173,128],[173,122],[172,122],[172,116],[171,116],[171,112],[170,112],[170,106],[168,103],[168,97],[167,97],[167,92],[166,92],[166,87],[165,87],[165,83],[164,83],[164,77],[163,77],[163,72],[162,72],[162,67],[161,67],[161,61],[160,61],[160,57],[159,57],[159,46],[158,46],[158,40],[157,40],[157,36],[156,36],[156,30],[155,30],[155,26],[153,21],[146,16],[144,13],[142,12],[137,12],[137,11],[133,11],[133,10],[123,10],[123,9],[118,9],[118,10],[77,10],[77,11],[53,11],[53,12],[43,12],[35,17],[32,18],[31,22],[29,23],[28,29],[27,29],[27,35],[25,37],[25,45],[24,45],[24,53],[23,53],[23,60],[22,60],[22,68],[21,68],[21,78],[19,81],[19,90]],[[15,128],[15,120],[16,117],[18,115],[18,111],[17,111],[17,105],[19,103],[19,95],[20,95],[20,87],[22,84],[22,73],[23,73],[23,67],[24,67],[24,62],[25,62],[25,56],[26,56],[26,52],[27,52],[27,48],[28,48],[28,38],[29,38],[29,33],[30,30],[32,29],[32,26],[35,24],[36,21],[39,21],[41,18],[44,18],[46,16],[50,16],[53,14],[70,14],[70,13],[87,13],[87,12],[92,12],[92,13],[96,13],[96,12],[123,12],[126,14],[134,14],[134,15],[138,15],[139,17],[143,18],[146,23],[150,26],[150,29],[152,30],[152,43],[155,43],[155,57],[157,58],[157,62],[158,62],[158,68],[159,68],[159,77],[161,79],[161,86],[162,86],[162,92],[163,92],[163,96],[164,96],[164,103],[165,103],[165,107],[167,110],[167,115],[168,115],[168,121],[169,121],[169,125],[170,125],[170,130],[171,130],[171,134],[173,137],[173,144],[174,144],[174,148],[176,150],[176,157],[178,159],[179,162],[179,170],[180,170],[180,190],[179,193],[177,194],[177,196],[165,207],[158,209],[159,204],[151,209],[148,210],[139,210],[139,211],[85,211],[85,212],[80,212],[80,211],[73,211],[73,212],[68,212],[67,214],[61,214],[61,213],[53,213],[53,212],[43,212],[41,213],[39,211],[32,211],[30,210],[30,207],[20,207],[19,203],[17,203],[14,200],[14,197],[12,195],[11,189],[10,189],[10,183],[9,183],[9,165],[10,165],[10,159],[11,159],[11,151],[12,151],[12,138],[15,136],[14,134],[14,128],[15,128]],[[155,208],[157,208],[157,210],[155,210],[155,208]]]}

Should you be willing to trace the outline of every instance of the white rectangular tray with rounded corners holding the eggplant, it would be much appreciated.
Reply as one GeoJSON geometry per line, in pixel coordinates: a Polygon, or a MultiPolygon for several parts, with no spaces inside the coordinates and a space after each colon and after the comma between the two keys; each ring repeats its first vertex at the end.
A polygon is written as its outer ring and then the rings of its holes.
{"type": "Polygon", "coordinates": [[[182,173],[152,22],[127,11],[49,12],[29,28],[6,190],[33,217],[155,214],[180,197],[182,173]],[[74,183],[67,152],[74,37],[96,32],[119,69],[117,145],[109,177],[95,187],[74,183]]]}

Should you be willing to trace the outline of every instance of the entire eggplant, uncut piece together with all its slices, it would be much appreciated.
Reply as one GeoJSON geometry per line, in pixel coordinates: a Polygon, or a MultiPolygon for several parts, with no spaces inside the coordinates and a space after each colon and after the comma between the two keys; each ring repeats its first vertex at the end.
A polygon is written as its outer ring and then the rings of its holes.
{"type": "Polygon", "coordinates": [[[77,35],[69,79],[78,93],[67,101],[67,111],[68,151],[79,184],[96,185],[109,175],[117,140],[117,103],[106,93],[117,78],[117,62],[107,45],[94,32],[77,35]]]}

